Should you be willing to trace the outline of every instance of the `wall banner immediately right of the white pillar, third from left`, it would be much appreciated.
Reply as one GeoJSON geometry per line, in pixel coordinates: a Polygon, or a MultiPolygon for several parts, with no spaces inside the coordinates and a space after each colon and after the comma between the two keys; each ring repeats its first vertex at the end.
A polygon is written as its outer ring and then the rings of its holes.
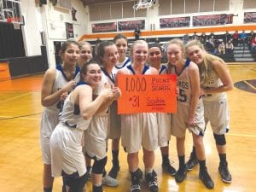
{"type": "Polygon", "coordinates": [[[160,28],[189,27],[190,17],[160,18],[160,28]]]}

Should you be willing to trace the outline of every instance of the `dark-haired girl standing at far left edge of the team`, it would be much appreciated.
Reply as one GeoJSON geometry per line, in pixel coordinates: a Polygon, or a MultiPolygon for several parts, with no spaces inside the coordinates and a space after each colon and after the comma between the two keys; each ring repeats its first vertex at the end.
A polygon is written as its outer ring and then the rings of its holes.
{"type": "Polygon", "coordinates": [[[44,106],[40,128],[40,145],[44,162],[44,192],[51,192],[54,177],[51,176],[49,138],[59,122],[61,106],[68,93],[79,82],[79,44],[68,40],[61,46],[61,65],[49,68],[44,74],[41,103],[44,106]]]}

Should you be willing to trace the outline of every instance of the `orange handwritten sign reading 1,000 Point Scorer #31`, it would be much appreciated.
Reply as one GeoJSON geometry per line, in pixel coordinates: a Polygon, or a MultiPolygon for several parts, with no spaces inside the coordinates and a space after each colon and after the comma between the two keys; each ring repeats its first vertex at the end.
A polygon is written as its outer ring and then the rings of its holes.
{"type": "Polygon", "coordinates": [[[176,113],[177,75],[118,75],[118,113],[176,113]]]}

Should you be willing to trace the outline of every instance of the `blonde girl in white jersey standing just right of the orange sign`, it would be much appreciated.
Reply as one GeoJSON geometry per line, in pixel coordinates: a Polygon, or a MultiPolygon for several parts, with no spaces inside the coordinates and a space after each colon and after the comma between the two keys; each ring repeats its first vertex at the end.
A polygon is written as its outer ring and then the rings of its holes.
{"type": "Polygon", "coordinates": [[[177,113],[172,114],[172,135],[177,139],[177,155],[179,168],[175,175],[177,183],[183,182],[187,176],[185,165],[186,130],[192,133],[197,158],[200,163],[199,177],[208,189],[214,187],[212,178],[207,172],[206,154],[203,143],[205,122],[203,103],[200,97],[199,69],[193,61],[184,57],[183,41],[174,38],[167,44],[168,72],[177,74],[177,113]]]}

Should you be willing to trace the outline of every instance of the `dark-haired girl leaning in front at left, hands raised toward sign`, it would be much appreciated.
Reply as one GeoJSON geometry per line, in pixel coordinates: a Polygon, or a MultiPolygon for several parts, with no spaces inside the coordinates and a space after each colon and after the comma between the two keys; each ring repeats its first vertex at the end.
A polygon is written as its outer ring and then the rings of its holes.
{"type": "Polygon", "coordinates": [[[91,117],[102,103],[113,96],[111,89],[103,89],[95,100],[93,90],[101,82],[102,71],[96,61],[89,61],[81,68],[80,82],[67,96],[60,122],[50,137],[52,174],[64,177],[67,192],[82,192],[88,177],[82,152],[82,136],[90,125],[91,117]]]}

